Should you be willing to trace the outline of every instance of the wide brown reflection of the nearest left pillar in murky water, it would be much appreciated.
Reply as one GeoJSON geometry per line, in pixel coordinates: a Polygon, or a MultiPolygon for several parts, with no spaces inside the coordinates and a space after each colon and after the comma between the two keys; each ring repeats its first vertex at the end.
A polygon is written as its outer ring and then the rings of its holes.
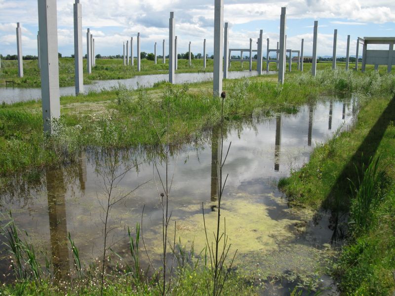
{"type": "Polygon", "coordinates": [[[64,278],[69,272],[69,249],[63,171],[61,169],[47,170],[45,178],[52,264],[58,278],[64,278]]]}

